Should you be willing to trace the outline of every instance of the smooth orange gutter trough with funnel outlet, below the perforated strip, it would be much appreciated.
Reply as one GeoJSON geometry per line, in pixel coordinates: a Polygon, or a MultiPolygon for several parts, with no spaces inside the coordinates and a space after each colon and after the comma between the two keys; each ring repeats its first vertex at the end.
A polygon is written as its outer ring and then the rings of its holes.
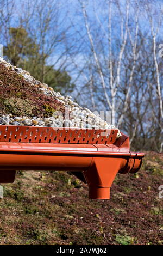
{"type": "Polygon", "coordinates": [[[116,174],[137,172],[143,156],[129,151],[129,137],[123,134],[112,144],[102,140],[101,144],[4,142],[1,137],[0,182],[14,182],[15,170],[80,172],[89,185],[90,198],[109,199],[116,174]]]}

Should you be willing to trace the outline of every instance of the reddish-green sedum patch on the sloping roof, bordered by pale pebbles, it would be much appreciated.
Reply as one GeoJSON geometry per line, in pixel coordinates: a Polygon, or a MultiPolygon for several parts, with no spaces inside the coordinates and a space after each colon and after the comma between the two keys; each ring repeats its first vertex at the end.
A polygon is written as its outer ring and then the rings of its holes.
{"type": "Polygon", "coordinates": [[[22,75],[0,64],[0,113],[49,117],[54,111],[64,113],[64,106],[54,97],[43,94],[22,75]]]}

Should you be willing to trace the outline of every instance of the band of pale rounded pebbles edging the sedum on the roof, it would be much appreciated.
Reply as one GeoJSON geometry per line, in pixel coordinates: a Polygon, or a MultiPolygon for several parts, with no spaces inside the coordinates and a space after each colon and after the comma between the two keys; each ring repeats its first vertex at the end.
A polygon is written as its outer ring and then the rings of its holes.
{"type": "MultiPolygon", "coordinates": [[[[83,108],[78,103],[72,100],[71,96],[63,96],[59,92],[54,92],[52,87],[48,87],[48,84],[41,83],[35,80],[29,72],[16,68],[6,62],[0,57],[0,63],[3,63],[6,67],[15,70],[18,74],[21,74],[24,79],[36,86],[38,90],[41,90],[45,95],[55,97],[60,101],[65,108],[68,108],[69,117],[63,119],[60,113],[55,112],[53,117],[39,118],[39,117],[16,117],[11,114],[0,114],[0,125],[27,125],[27,126],[53,126],[53,127],[79,127],[79,128],[93,128],[93,129],[117,129],[115,126],[106,123],[99,115],[90,111],[90,109],[83,108]]],[[[120,130],[118,130],[117,138],[121,136],[120,130]]]]}

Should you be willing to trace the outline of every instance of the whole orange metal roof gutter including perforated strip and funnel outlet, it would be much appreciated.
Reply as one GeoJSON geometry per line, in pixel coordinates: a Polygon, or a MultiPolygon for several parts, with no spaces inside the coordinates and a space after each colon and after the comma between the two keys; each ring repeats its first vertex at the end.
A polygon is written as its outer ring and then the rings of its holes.
{"type": "Polygon", "coordinates": [[[116,139],[116,129],[66,129],[0,126],[0,182],[14,182],[15,170],[81,172],[90,198],[109,199],[117,172],[140,169],[144,154],[130,152],[129,137],[116,139]]]}

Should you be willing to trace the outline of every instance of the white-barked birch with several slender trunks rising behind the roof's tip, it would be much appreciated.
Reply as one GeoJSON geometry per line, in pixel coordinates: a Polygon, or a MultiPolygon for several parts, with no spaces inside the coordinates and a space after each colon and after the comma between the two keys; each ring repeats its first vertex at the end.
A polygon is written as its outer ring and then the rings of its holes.
{"type": "MultiPolygon", "coordinates": [[[[106,19],[108,25],[104,25],[101,21],[98,11],[96,8],[93,8],[93,19],[96,20],[98,25],[99,33],[98,36],[103,35],[103,41],[101,41],[101,48],[106,48],[105,43],[108,44],[108,52],[106,52],[106,56],[104,52],[99,51],[98,45],[95,38],[95,32],[89,22],[89,16],[87,13],[87,4],[85,1],[79,1],[82,14],[84,19],[84,24],[86,28],[87,38],[90,44],[90,50],[92,52],[93,58],[93,76],[97,77],[98,82],[102,86],[104,105],[107,110],[111,111],[111,123],[112,125],[121,126],[122,120],[124,117],[124,113],[127,111],[127,102],[129,99],[130,88],[132,86],[132,80],[134,75],[134,69],[136,65],[136,48],[137,48],[137,34],[139,31],[139,6],[136,2],[136,10],[135,10],[135,29],[134,36],[131,35],[131,31],[129,28],[129,15],[130,15],[130,2],[126,1],[125,8],[122,8],[120,1],[105,1],[103,2],[104,6],[108,10],[108,19],[106,19]],[[120,20],[120,41],[118,44],[118,48],[116,49],[116,53],[112,50],[114,48],[115,40],[114,37],[114,25],[112,24],[113,11],[117,9],[116,13],[119,15],[120,20]],[[123,11],[122,11],[123,9],[123,11]],[[93,35],[94,34],[94,35],[93,35]],[[127,84],[127,90],[125,95],[122,96],[121,93],[121,85],[122,78],[121,74],[123,72],[123,57],[124,51],[126,50],[127,41],[130,40],[131,48],[132,48],[132,58],[133,58],[133,68],[130,72],[129,83],[127,84]],[[103,56],[102,56],[103,54],[103,56]],[[96,75],[95,75],[96,72],[96,75]],[[122,100],[120,102],[120,94],[122,96],[122,100]],[[120,113],[120,108],[117,106],[123,104],[123,112],[120,113]]],[[[106,23],[105,22],[105,23],[106,23]]],[[[95,78],[94,78],[95,80],[95,78]]],[[[92,80],[91,80],[92,83],[92,80]]],[[[90,84],[91,84],[90,83],[90,84]]],[[[102,93],[101,92],[101,93],[102,93]]],[[[121,108],[122,109],[122,108],[121,108]]]]}

